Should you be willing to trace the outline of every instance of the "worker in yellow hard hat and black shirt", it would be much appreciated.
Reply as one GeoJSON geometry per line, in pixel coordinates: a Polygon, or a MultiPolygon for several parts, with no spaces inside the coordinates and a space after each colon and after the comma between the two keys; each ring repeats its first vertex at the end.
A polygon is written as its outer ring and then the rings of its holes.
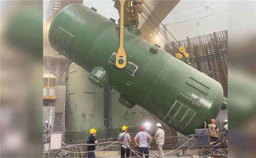
{"type": "MultiPolygon", "coordinates": [[[[95,138],[96,132],[97,131],[94,128],[90,130],[90,136],[87,139],[87,144],[98,144],[98,140],[96,140],[95,138]]],[[[96,158],[94,154],[94,150],[95,150],[95,145],[87,147],[87,158],[96,158]]]]}

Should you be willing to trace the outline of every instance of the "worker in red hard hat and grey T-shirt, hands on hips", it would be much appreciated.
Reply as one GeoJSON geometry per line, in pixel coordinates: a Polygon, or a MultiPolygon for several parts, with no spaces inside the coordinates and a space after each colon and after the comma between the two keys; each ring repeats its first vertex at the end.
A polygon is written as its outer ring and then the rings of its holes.
{"type": "Polygon", "coordinates": [[[134,142],[138,146],[138,152],[139,152],[138,155],[142,158],[144,153],[145,157],[149,158],[148,147],[150,147],[152,138],[147,132],[145,132],[145,126],[141,125],[139,128],[140,128],[140,132],[138,132],[134,138],[134,142]],[[139,144],[137,142],[137,139],[139,140],[139,144]],[[147,139],[149,139],[149,142],[147,142],[147,139]]]}

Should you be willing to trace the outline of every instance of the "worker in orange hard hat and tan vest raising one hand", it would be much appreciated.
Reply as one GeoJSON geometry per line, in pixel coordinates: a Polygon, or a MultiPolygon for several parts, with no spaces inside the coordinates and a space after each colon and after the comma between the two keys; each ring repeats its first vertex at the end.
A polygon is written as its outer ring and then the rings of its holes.
{"type": "MultiPolygon", "coordinates": [[[[204,123],[204,128],[206,127],[206,122],[203,121],[204,123]]],[[[210,138],[212,140],[211,144],[216,144],[215,146],[219,146],[219,140],[218,140],[218,133],[219,133],[219,128],[217,127],[217,125],[215,125],[216,121],[215,119],[211,119],[211,124],[208,124],[208,133],[210,135],[210,138]]]]}

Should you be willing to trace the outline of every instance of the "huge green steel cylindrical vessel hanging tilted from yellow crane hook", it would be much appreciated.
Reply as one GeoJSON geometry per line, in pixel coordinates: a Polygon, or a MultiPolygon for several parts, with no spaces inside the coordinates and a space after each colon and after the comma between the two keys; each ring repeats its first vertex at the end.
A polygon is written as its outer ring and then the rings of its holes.
{"type": "Polygon", "coordinates": [[[81,4],[63,8],[49,29],[51,46],[85,70],[101,66],[115,90],[183,135],[216,118],[223,102],[221,85],[137,35],[124,32],[127,66],[118,69],[114,53],[120,27],[81,4]]]}

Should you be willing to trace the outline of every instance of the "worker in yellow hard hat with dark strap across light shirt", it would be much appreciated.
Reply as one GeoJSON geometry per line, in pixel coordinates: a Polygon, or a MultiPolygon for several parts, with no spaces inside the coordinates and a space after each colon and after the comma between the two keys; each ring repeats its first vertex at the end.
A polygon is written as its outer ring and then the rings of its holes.
{"type": "Polygon", "coordinates": [[[130,149],[129,149],[129,143],[130,143],[130,135],[127,133],[127,128],[126,126],[122,127],[122,133],[118,136],[119,142],[122,142],[121,146],[121,158],[125,158],[125,153],[126,153],[126,158],[130,157],[130,149]]]}

